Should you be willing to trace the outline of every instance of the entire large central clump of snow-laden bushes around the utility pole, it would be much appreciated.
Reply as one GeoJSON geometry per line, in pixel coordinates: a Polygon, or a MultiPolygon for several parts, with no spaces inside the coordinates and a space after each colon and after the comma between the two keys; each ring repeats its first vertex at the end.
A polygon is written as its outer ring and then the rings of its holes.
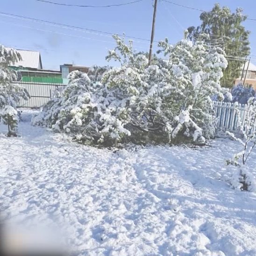
{"type": "Polygon", "coordinates": [[[211,97],[224,99],[220,87],[227,60],[222,50],[203,41],[182,40],[174,46],[159,43],[148,64],[132,42],[114,36],[117,46],[107,60],[110,69],[93,67],[88,74],[74,71],[59,97],[46,104],[33,123],[64,131],[76,139],[113,145],[117,142],[204,143],[215,131],[211,97]]]}

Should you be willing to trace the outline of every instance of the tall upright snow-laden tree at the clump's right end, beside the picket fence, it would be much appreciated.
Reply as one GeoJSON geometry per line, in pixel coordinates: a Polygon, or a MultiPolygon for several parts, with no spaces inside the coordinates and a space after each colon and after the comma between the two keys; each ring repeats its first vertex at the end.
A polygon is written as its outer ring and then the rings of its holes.
{"type": "Polygon", "coordinates": [[[215,132],[212,96],[223,100],[227,91],[220,87],[222,70],[228,64],[225,53],[220,48],[209,48],[203,40],[194,44],[182,40],[174,47],[165,41],[160,46],[164,55],[169,55],[166,65],[169,84],[174,88],[170,103],[176,105],[173,113],[178,125],[172,135],[182,132],[204,142],[215,132]]]}

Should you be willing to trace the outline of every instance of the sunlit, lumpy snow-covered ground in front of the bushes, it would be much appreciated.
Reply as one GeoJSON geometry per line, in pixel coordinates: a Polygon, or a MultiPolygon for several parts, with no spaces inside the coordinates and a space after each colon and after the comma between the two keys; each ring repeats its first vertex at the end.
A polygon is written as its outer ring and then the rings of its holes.
{"type": "Polygon", "coordinates": [[[225,182],[236,142],[112,152],[22,117],[21,137],[0,135],[2,218],[63,221],[83,256],[256,256],[256,194],[225,182]]]}

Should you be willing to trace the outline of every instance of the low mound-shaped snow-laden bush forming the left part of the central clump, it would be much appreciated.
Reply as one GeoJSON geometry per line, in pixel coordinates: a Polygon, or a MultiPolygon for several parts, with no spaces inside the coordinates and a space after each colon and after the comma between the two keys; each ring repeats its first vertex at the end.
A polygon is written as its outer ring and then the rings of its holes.
{"type": "Polygon", "coordinates": [[[105,145],[117,142],[124,134],[130,135],[124,128],[127,121],[123,108],[100,83],[98,71],[93,68],[88,75],[71,72],[60,97],[49,101],[43,112],[34,117],[33,124],[64,131],[79,141],[105,145]]]}

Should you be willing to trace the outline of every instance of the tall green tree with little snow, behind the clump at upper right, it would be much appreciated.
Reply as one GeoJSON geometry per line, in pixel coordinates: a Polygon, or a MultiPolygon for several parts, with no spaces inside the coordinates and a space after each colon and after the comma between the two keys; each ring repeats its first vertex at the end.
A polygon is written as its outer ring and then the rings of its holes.
{"type": "MultiPolygon", "coordinates": [[[[209,12],[200,14],[201,25],[197,28],[189,27],[188,37],[196,41],[202,34],[208,34],[206,42],[210,46],[220,46],[227,56],[243,58],[249,55],[249,34],[242,22],[247,16],[242,14],[242,8],[232,13],[228,7],[215,4],[209,12]]],[[[223,73],[221,85],[232,87],[236,78],[240,76],[242,61],[229,59],[228,67],[223,73]]]]}

